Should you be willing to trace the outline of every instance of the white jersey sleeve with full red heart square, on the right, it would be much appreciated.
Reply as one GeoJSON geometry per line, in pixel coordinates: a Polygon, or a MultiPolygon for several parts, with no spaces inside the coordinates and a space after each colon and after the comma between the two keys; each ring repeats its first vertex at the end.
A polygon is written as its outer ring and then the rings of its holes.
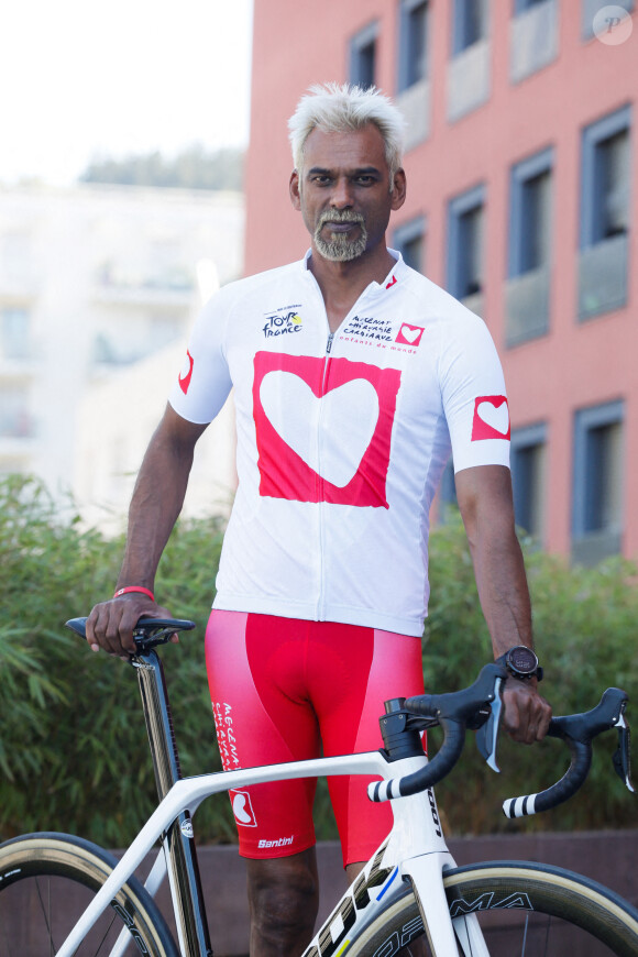
{"type": "Polygon", "coordinates": [[[509,406],[487,327],[459,306],[441,334],[439,381],[454,472],[474,465],[509,468],[509,406]]]}

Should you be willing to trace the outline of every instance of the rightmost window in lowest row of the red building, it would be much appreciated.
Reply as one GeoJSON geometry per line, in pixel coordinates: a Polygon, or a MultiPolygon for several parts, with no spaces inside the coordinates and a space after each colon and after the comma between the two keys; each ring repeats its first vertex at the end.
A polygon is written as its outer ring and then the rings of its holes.
{"type": "Polygon", "coordinates": [[[622,402],[575,416],[572,554],[583,564],[620,551],[623,419],[622,402]]]}

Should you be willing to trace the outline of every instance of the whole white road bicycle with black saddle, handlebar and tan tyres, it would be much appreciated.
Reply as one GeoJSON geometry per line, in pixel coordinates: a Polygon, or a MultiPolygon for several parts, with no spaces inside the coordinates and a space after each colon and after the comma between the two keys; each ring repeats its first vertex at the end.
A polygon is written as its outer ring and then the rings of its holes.
{"type": "MultiPolygon", "coordinates": [[[[84,637],[85,623],[86,618],[76,618],[67,625],[84,637]]],[[[179,619],[141,619],[138,624],[138,650],[130,660],[139,678],[160,805],[122,859],[117,861],[81,838],[47,832],[0,846],[0,916],[4,902],[19,906],[14,892],[31,880],[38,883],[45,943],[30,953],[58,957],[89,953],[121,957],[131,952],[153,957],[212,955],[191,814],[206,798],[231,788],[348,773],[381,778],[369,784],[369,796],[393,802],[394,825],[302,957],[393,957],[424,932],[436,957],[499,957],[502,931],[493,927],[495,916],[499,923],[506,917],[520,933],[518,949],[508,949],[507,955],[549,957],[563,955],[569,947],[578,957],[598,953],[636,957],[638,910],[615,892],[542,864],[502,860],[457,867],[447,848],[433,785],[459,760],[466,727],[476,730],[484,758],[497,769],[499,686],[507,676],[499,666],[485,666],[476,681],[460,692],[386,702],[380,719],[384,747],[378,751],[182,778],[156,648],[175,631],[193,627],[194,623],[179,619]],[[420,732],[436,724],[443,729],[443,743],[428,761],[420,732]],[[165,854],[157,855],[142,886],[133,873],[157,842],[165,854]],[[153,901],[166,871],[177,944],[153,901]],[[66,879],[65,904],[68,886],[91,898],[89,903],[78,903],[78,916],[66,927],[56,924],[59,913],[53,900],[54,884],[62,878],[66,879]],[[101,923],[105,915],[107,926],[101,923]],[[592,949],[598,945],[601,949],[592,949]]],[[[522,816],[568,800],[587,776],[592,738],[608,728],[618,730],[615,769],[632,791],[626,705],[625,692],[607,689],[592,711],[553,718],[550,735],[562,738],[572,752],[566,773],[539,794],[506,801],[505,813],[522,816]]],[[[19,950],[11,946],[12,942],[3,941],[0,926],[0,955],[28,957],[22,945],[19,950]]]]}

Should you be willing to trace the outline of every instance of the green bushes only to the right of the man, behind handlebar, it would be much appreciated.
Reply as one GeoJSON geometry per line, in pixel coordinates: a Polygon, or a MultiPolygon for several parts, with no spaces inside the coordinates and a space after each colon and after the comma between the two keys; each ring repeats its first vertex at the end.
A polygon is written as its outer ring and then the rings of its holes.
{"type": "MultiPolygon", "coordinates": [[[[524,541],[534,608],[536,648],[546,668],[540,685],[554,714],[588,711],[608,686],[629,694],[629,722],[638,703],[638,569],[622,559],[595,569],[571,568],[563,559],[524,541]]],[[[492,659],[461,520],[451,515],[430,539],[430,615],[426,623],[426,689],[452,691],[469,684],[492,659]]],[[[432,750],[440,738],[430,733],[432,750]]],[[[615,732],[594,743],[592,770],[583,789],[554,811],[510,822],[503,800],[548,788],[566,771],[570,754],[554,739],[531,747],[503,735],[502,773],[485,765],[469,736],[458,771],[437,785],[448,828],[457,834],[636,827],[636,799],[612,767],[615,732]],[[462,779],[460,779],[462,774],[462,779]],[[462,782],[462,783],[461,783],[462,782]],[[459,800],[462,794],[462,800],[459,800]]]]}

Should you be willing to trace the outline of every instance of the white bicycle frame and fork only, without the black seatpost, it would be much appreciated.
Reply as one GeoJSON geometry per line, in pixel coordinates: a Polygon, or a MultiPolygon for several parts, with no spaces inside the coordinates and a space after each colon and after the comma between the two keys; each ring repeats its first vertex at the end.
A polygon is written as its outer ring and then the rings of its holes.
{"type": "MultiPolygon", "coordinates": [[[[122,859],[103,883],[89,906],[68,935],[58,957],[73,957],[85,935],[100,914],[109,906],[122,886],[142,864],[155,844],[168,832],[170,824],[184,812],[194,814],[201,802],[230,789],[293,778],[319,778],[333,774],[356,774],[370,778],[391,778],[410,774],[427,763],[425,756],[388,762],[381,751],[320,758],[239,771],[224,771],[184,778],[177,781],[142,827],[122,859]]],[[[366,787],[362,781],[361,787],[366,787]]],[[[345,891],[334,910],[316,934],[302,957],[340,957],[348,944],[376,916],[405,891],[405,881],[411,882],[430,947],[435,957],[457,957],[457,941],[466,957],[490,957],[477,921],[473,914],[450,919],[443,888],[443,872],[455,867],[448,850],[437,811],[432,789],[409,798],[391,801],[394,813],[393,828],[363,872],[345,891]]],[[[165,855],[158,855],[146,889],[154,894],[166,873],[165,855]]],[[[179,928],[179,921],[177,921],[179,928]]],[[[411,922],[402,930],[397,947],[405,946],[420,930],[411,922]]],[[[183,957],[189,957],[179,933],[183,957]]],[[[111,952],[118,957],[130,943],[127,928],[111,952]]]]}

